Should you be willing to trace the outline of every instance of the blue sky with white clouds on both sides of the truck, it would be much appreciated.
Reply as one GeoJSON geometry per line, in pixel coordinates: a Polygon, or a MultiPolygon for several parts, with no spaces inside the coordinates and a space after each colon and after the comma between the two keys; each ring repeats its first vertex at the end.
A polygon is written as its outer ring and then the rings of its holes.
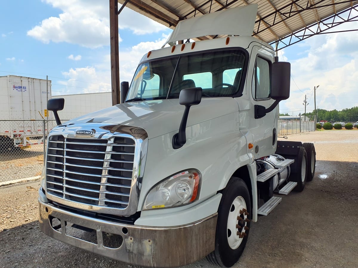
{"type": "MultiPolygon", "coordinates": [[[[142,55],[163,45],[171,30],[125,8],[119,16],[120,79],[131,80],[142,55]]],[[[52,80],[52,94],[110,91],[108,0],[3,1],[0,76],[52,80]]],[[[339,29],[357,29],[345,23],[339,29]]],[[[302,113],[304,95],[317,106],[358,106],[358,35],[319,35],[279,51],[291,62],[291,98],[281,112],[302,113]]]]}

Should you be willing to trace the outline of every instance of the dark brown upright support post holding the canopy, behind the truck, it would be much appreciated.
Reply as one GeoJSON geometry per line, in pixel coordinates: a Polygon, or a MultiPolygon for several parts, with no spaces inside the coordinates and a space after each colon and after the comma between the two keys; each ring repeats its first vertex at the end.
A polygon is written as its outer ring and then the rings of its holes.
{"type": "Polygon", "coordinates": [[[110,1],[112,105],[116,105],[120,103],[118,0],[109,0],[109,1],[110,1]]]}

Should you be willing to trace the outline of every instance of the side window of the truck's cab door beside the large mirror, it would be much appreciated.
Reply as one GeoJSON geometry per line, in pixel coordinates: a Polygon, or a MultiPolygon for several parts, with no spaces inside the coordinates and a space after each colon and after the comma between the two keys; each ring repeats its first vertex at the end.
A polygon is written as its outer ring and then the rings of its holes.
{"type": "Polygon", "coordinates": [[[270,64],[267,60],[257,57],[253,83],[255,83],[255,99],[267,99],[270,97],[271,80],[270,64]]]}

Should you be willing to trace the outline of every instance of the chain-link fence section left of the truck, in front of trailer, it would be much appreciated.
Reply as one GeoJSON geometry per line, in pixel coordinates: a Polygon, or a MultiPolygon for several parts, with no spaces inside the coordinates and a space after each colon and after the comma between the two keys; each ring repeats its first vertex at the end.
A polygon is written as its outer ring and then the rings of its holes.
{"type": "Polygon", "coordinates": [[[55,120],[0,120],[0,182],[41,174],[44,140],[54,126],[55,120]]]}

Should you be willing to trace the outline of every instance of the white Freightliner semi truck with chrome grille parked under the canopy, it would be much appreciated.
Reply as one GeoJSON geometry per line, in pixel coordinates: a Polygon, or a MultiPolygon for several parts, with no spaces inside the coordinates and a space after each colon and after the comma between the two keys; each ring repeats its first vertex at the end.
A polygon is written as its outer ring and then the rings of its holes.
{"type": "Polygon", "coordinates": [[[136,265],[237,262],[251,222],[315,171],[313,144],[277,141],[290,64],[250,36],[256,12],[181,21],[122,83],[122,104],[61,124],[63,99],[49,101],[59,125],[40,179],[42,232],[136,265]],[[217,38],[190,40],[203,35],[217,38]]]}

